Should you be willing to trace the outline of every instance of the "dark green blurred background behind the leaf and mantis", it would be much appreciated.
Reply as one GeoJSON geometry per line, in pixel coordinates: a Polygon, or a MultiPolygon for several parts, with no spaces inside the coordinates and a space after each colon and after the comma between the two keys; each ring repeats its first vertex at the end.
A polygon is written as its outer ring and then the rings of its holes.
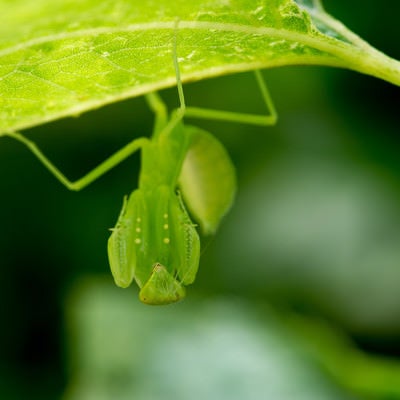
{"type": "MultiPolygon", "coordinates": [[[[325,5],[400,59],[398,1],[325,5]]],[[[138,155],[72,193],[1,140],[1,399],[400,398],[400,89],[322,67],[264,76],[277,126],[196,122],[228,148],[239,192],[173,306],[141,305],[108,271],[138,155]]],[[[251,74],[184,90],[264,111],[251,74]]],[[[176,89],[162,96],[176,106],[176,89]]],[[[25,133],[78,178],[151,128],[133,99],[25,133]]]]}

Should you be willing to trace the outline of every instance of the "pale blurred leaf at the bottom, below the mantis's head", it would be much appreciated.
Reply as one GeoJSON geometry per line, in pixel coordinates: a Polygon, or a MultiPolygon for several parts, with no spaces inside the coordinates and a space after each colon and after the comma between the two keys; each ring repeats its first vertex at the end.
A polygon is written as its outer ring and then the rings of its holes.
{"type": "Polygon", "coordinates": [[[146,308],[130,291],[87,280],[69,317],[74,374],[65,400],[352,398],[268,308],[239,299],[146,308]]]}

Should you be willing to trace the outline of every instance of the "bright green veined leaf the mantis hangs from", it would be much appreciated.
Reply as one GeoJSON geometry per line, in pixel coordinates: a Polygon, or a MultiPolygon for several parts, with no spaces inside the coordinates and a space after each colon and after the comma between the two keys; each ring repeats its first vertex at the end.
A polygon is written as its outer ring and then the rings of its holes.
{"type": "Polygon", "coordinates": [[[399,62],[310,0],[0,0],[0,133],[182,80],[292,64],[400,84],[399,62]]]}

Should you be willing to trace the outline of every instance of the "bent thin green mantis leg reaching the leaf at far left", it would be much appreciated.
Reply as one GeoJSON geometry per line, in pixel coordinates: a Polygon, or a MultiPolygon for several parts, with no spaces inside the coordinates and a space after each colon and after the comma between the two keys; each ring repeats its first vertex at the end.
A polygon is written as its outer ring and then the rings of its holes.
{"type": "Polygon", "coordinates": [[[44,153],[32,140],[28,139],[27,137],[18,132],[8,132],[2,134],[1,136],[11,137],[17,140],[18,142],[22,143],[23,145],[25,145],[29,150],[31,150],[31,152],[35,155],[35,157],[45,166],[45,168],[52,175],[54,175],[55,178],[57,178],[69,190],[75,190],[75,191],[81,190],[84,187],[88,186],[93,181],[98,179],[100,176],[104,175],[110,169],[114,168],[120,162],[125,160],[135,151],[141,149],[144,145],[146,145],[146,143],[148,143],[148,139],[144,137],[134,139],[132,142],[128,143],[122,149],[118,150],[116,153],[111,155],[109,158],[107,158],[96,168],[88,172],[82,178],[76,181],[71,181],[44,155],[44,153]]]}

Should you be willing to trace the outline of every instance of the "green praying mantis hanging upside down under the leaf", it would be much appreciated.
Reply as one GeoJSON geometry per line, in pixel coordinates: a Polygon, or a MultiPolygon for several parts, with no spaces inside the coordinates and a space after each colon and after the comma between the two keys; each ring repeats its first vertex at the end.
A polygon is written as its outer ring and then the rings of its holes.
{"type": "Polygon", "coordinates": [[[229,210],[236,189],[232,162],[210,133],[184,119],[212,119],[268,126],[277,113],[261,72],[254,71],[269,113],[254,115],[187,107],[176,51],[172,48],[179,107],[168,113],[158,93],[146,95],[154,112],[150,138],[140,137],[111,155],[92,171],[70,181],[34,142],[18,132],[4,133],[27,146],[68,189],[81,190],[120,162],[141,150],[138,188],[125,197],[108,240],[108,258],[115,283],[123,288],[133,280],[146,304],[169,304],[185,297],[199,266],[200,239],[191,216],[204,235],[215,233],[229,210]],[[189,215],[190,213],[190,215],[189,215]]]}

